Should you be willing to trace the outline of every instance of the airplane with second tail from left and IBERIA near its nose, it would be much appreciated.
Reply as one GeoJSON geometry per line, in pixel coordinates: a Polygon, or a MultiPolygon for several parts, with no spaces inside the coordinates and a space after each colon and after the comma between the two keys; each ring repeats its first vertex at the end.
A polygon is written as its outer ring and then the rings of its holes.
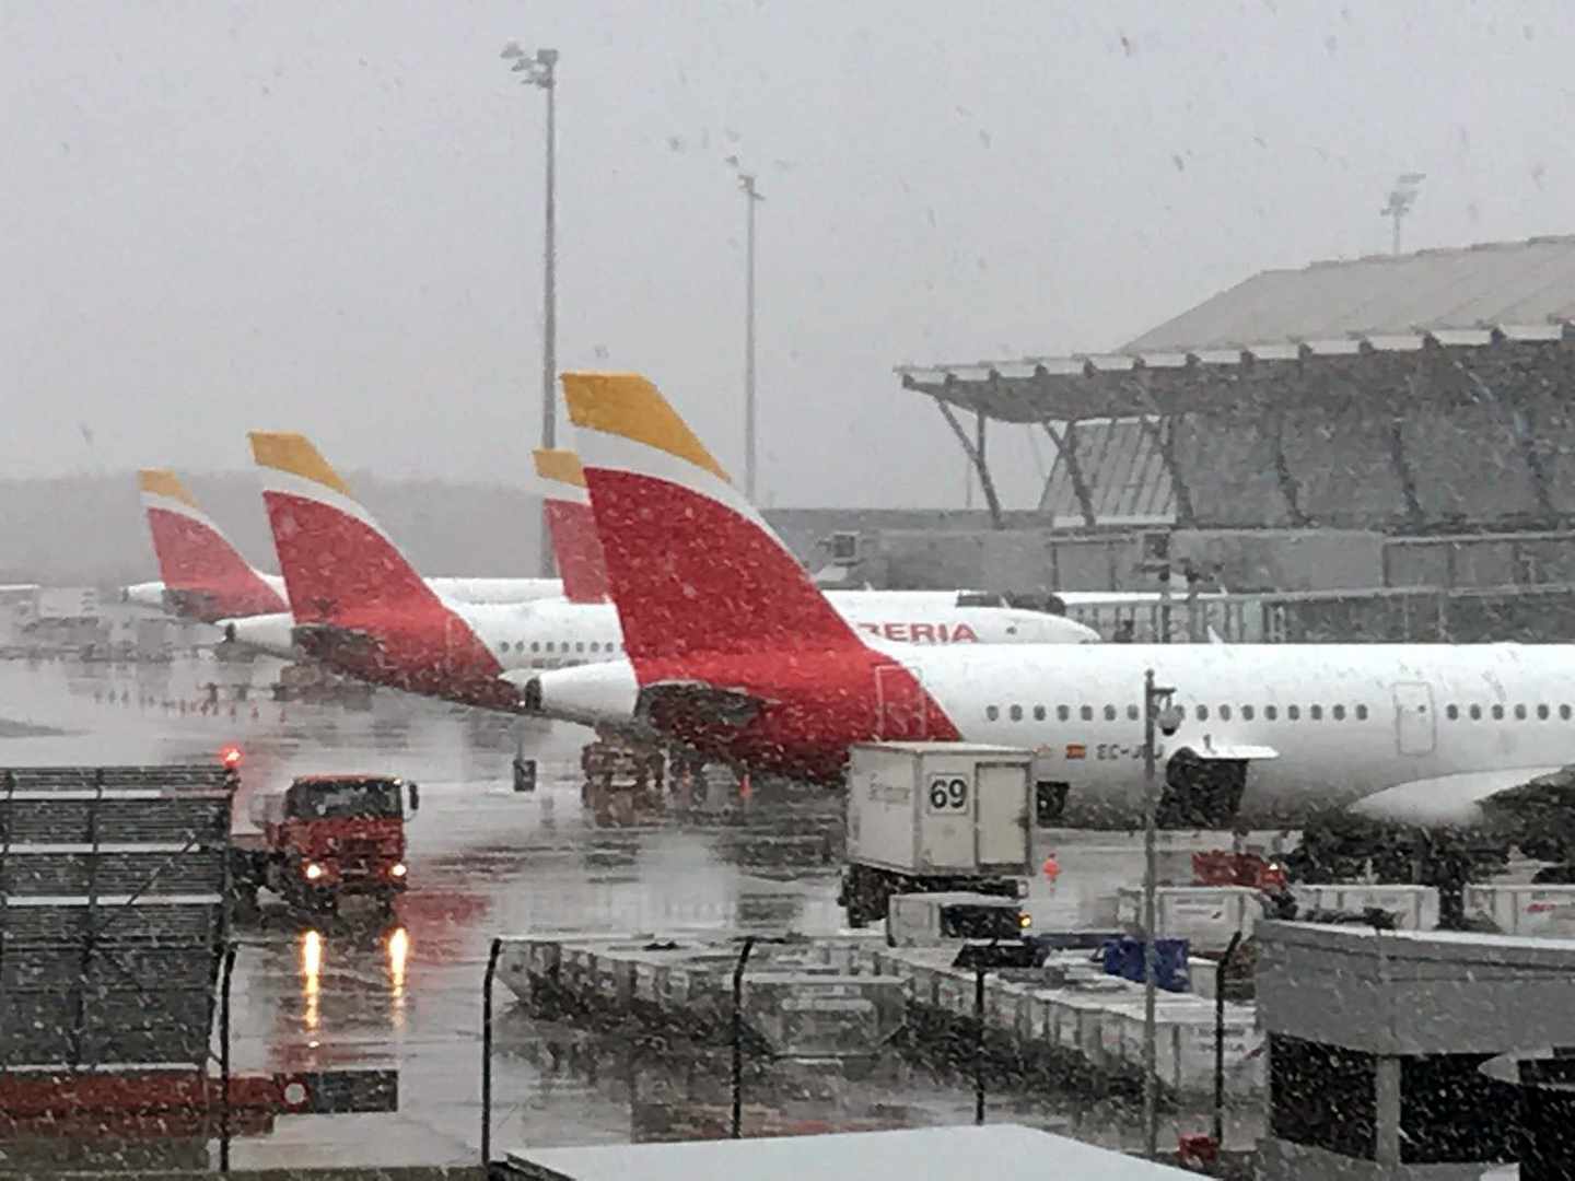
{"type": "MultiPolygon", "coordinates": [[[[501,672],[622,652],[617,609],[610,602],[444,598],[309,439],[274,431],[252,431],[250,439],[291,613],[225,620],[236,641],[258,647],[295,642],[306,655],[378,685],[504,710],[520,710],[520,694],[499,680],[501,672]]],[[[712,554],[712,562],[729,561],[724,550],[712,554]]],[[[718,598],[707,609],[726,616],[732,605],[718,598]]],[[[850,627],[912,642],[1098,642],[1091,628],[1038,611],[950,608],[893,617],[887,603],[860,592],[847,592],[835,609],[850,627]]],[[[780,625],[792,627],[794,620],[780,625]]]]}

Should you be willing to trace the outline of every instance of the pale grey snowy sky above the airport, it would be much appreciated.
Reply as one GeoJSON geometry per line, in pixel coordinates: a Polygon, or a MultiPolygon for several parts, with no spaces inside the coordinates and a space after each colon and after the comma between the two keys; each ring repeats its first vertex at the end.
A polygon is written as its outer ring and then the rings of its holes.
{"type": "MultiPolygon", "coordinates": [[[[899,361],[1098,350],[1252,271],[1570,228],[1548,3],[0,0],[0,471],[510,479],[539,422],[540,93],[561,367],[657,378],[742,479],[758,170],[761,488],[959,504],[899,361]],[[978,11],[973,11],[978,9],[978,11]],[[79,424],[93,430],[90,457],[79,424]]],[[[1035,491],[1002,444],[1006,494],[1035,491]]]]}

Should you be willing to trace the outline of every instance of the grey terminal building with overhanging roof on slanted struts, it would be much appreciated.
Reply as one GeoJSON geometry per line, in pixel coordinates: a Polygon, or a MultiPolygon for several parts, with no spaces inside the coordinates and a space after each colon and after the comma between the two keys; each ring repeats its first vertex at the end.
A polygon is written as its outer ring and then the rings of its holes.
{"type": "Polygon", "coordinates": [[[1570,638],[1572,321],[1575,236],[1534,238],[1265,271],[1112,353],[904,365],[986,510],[871,515],[830,565],[1246,595],[1227,639],[1570,638]],[[1035,510],[995,493],[1003,428],[1054,449],[1035,510]]]}

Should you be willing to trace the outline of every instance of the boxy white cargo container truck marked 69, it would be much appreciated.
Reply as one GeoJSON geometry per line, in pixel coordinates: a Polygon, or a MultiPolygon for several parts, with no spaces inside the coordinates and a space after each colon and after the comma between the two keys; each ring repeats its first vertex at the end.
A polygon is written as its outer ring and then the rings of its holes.
{"type": "Polygon", "coordinates": [[[901,893],[1027,893],[1032,790],[1033,754],[1013,746],[855,745],[841,898],[849,926],[884,918],[901,893]]]}

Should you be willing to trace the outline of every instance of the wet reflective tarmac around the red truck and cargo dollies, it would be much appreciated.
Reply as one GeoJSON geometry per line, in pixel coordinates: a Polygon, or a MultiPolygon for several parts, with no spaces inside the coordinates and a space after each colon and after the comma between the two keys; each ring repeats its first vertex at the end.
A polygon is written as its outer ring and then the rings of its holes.
{"type": "MultiPolygon", "coordinates": [[[[277,661],[173,665],[0,663],[0,765],[173,762],[246,751],[249,790],[293,775],[378,770],[421,784],[410,827],[410,893],[392,923],[346,905],[309,927],[266,909],[244,927],[233,989],[235,1069],[391,1068],[398,1112],[287,1116],[236,1140],[236,1167],[472,1162],[480,1142],[482,976],[495,935],[532,931],[745,929],[835,932],[838,866],[803,839],[835,824],[836,802],[784,814],[762,806],[739,822],[600,828],[583,808],[578,754],[587,731],[529,724],[540,787],[517,794],[509,761],[517,723],[439,702],[378,694],[370,709],[279,704],[277,661]],[[205,685],[224,688],[203,709],[205,685]],[[183,707],[184,704],[184,707],[183,707]]],[[[1128,835],[1057,833],[1054,890],[1035,883],[1038,929],[1114,926],[1115,890],[1140,880],[1128,835]]],[[[1219,839],[1170,842],[1162,877],[1184,880],[1188,855],[1219,839]]],[[[728,1063],[682,1046],[532,1020],[496,995],[493,1143],[617,1143],[724,1134],[728,1063]]],[[[1107,1145],[1137,1146],[1137,1112],[1121,1101],[992,1094],[992,1120],[1017,1120],[1107,1145]]],[[[775,1129],[863,1129],[967,1123],[965,1075],[936,1075],[896,1055],[855,1075],[753,1066],[745,1121],[775,1129]]],[[[1167,1121],[1169,1123],[1169,1121],[1167,1121]]],[[[1202,1131],[1203,1112],[1178,1129],[1202,1131]]],[[[1233,1116],[1227,1142],[1255,1132],[1233,1116]]],[[[1173,1131],[1162,1132],[1173,1143],[1173,1131]]]]}

